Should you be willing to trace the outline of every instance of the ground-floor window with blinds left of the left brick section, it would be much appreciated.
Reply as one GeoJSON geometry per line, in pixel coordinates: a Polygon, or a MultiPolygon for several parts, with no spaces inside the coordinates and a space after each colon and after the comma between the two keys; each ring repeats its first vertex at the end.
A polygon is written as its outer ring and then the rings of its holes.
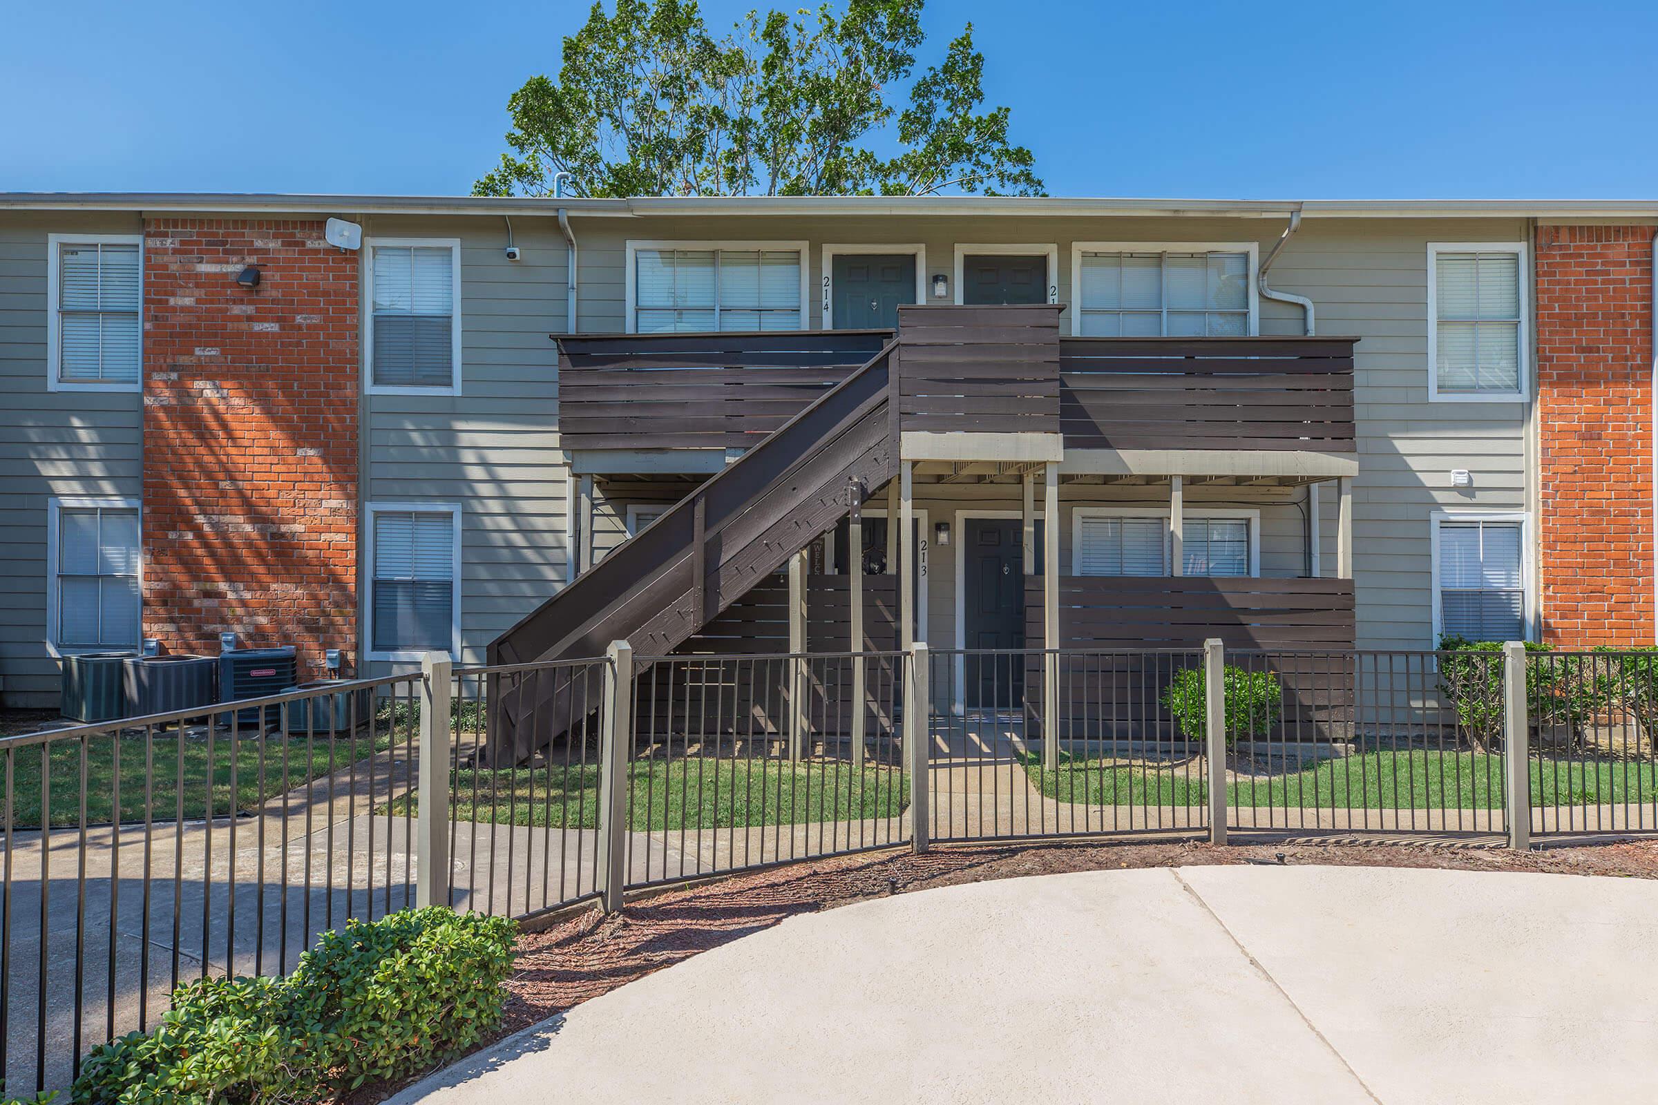
{"type": "Polygon", "coordinates": [[[58,648],[138,648],[139,557],[136,509],[58,507],[58,648]]]}

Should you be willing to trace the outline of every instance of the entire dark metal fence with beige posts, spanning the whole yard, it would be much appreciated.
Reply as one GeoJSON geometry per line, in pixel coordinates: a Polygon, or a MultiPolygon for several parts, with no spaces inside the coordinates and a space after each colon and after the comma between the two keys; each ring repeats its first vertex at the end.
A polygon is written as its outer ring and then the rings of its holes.
{"type": "Polygon", "coordinates": [[[421,903],[613,910],[627,890],[933,842],[1658,830],[1655,737],[1658,651],[1214,641],[434,656],[5,737],[0,1074],[63,1087],[176,984],[282,974],[347,918],[421,903]]]}

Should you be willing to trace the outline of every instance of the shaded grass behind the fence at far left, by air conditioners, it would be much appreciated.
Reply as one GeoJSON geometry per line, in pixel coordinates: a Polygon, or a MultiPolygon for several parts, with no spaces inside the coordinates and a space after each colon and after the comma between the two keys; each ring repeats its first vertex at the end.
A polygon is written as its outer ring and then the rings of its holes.
{"type": "MultiPolygon", "coordinates": [[[[330,769],[345,770],[353,759],[370,754],[370,749],[381,750],[391,744],[386,727],[376,727],[378,736],[370,741],[368,729],[356,734],[353,747],[350,736],[340,734],[333,741],[333,760],[327,734],[313,737],[308,744],[305,737],[267,737],[264,741],[265,785],[259,785],[260,742],[239,734],[235,741],[235,799],[237,810],[250,810],[260,802],[280,795],[284,790],[302,787],[318,775],[327,775],[330,769]],[[284,774],[285,772],[285,774],[284,774]]],[[[396,732],[398,746],[405,742],[405,732],[396,732]]],[[[53,741],[46,746],[22,746],[10,752],[12,757],[12,818],[17,828],[40,827],[40,759],[41,747],[50,749],[51,779],[51,825],[80,825],[81,820],[81,742],[53,741]]],[[[121,764],[121,820],[144,820],[144,736],[98,736],[86,739],[86,823],[99,825],[109,822],[114,805],[116,755],[119,749],[121,764]]],[[[199,818],[207,812],[207,794],[212,792],[214,815],[225,815],[232,808],[230,797],[230,734],[216,732],[212,739],[212,760],[209,762],[207,737],[177,737],[172,732],[156,734],[151,741],[149,805],[156,820],[172,820],[179,812],[179,777],[184,779],[184,817],[199,818]],[[209,770],[211,769],[211,770],[209,770]],[[209,779],[211,777],[211,779],[209,779]]],[[[0,757],[3,770],[3,757],[0,757]]]]}

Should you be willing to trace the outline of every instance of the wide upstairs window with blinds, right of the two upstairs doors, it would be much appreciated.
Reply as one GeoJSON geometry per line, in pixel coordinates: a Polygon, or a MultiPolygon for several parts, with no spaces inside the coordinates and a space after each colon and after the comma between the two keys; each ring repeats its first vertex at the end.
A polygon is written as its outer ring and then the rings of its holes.
{"type": "Polygon", "coordinates": [[[1248,335],[1248,253],[1094,253],[1079,263],[1083,335],[1248,335]]]}

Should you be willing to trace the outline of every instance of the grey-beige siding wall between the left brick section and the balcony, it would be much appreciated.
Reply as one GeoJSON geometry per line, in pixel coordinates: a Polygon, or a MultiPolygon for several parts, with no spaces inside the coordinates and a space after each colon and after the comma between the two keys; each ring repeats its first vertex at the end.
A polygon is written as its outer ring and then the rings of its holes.
{"type": "Polygon", "coordinates": [[[461,505],[466,663],[482,663],[489,641],[567,578],[569,469],[549,338],[565,330],[565,245],[552,217],[514,219],[512,232],[519,262],[506,258],[499,217],[363,222],[365,239],[461,240],[461,394],[366,394],[363,487],[368,500],[461,505]]]}

